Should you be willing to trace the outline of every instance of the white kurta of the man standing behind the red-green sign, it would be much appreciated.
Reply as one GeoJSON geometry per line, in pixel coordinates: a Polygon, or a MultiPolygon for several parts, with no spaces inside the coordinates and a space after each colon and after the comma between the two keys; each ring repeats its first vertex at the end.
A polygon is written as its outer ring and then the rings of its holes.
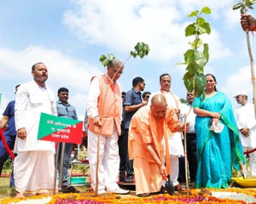
{"type": "Polygon", "coordinates": [[[54,142],[38,140],[38,127],[41,113],[57,115],[56,101],[48,86],[41,88],[31,81],[19,87],[15,99],[16,130],[26,128],[26,139],[17,137],[14,151],[50,150],[55,152],[54,142]]]}

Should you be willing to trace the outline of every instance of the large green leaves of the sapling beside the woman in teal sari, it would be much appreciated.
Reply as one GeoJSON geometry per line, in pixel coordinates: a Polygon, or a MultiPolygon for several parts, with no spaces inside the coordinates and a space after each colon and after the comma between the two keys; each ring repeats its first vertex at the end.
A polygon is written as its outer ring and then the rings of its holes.
{"type": "Polygon", "coordinates": [[[196,17],[194,23],[191,23],[185,29],[186,37],[194,36],[194,41],[190,42],[190,49],[184,53],[184,62],[181,65],[187,65],[184,74],[184,86],[187,92],[193,92],[195,97],[199,97],[204,93],[206,87],[206,77],[203,74],[203,68],[209,61],[209,45],[203,43],[200,39],[202,34],[210,34],[211,26],[201,17],[202,14],[211,13],[209,7],[203,7],[201,11],[194,10],[188,17],[196,17]]]}

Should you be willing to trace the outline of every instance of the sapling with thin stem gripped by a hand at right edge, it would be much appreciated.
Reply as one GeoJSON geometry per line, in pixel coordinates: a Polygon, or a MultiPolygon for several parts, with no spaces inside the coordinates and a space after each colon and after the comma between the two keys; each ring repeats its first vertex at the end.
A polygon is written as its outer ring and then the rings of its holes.
{"type": "MultiPolygon", "coordinates": [[[[235,5],[233,5],[233,10],[240,9],[241,14],[246,14],[249,9],[251,9],[251,10],[254,9],[254,7],[252,5],[254,5],[255,3],[256,3],[256,0],[242,0],[242,1],[237,2],[235,5]]],[[[251,42],[250,42],[250,35],[248,33],[248,29],[245,32],[246,32],[246,42],[247,42],[248,54],[249,54],[250,65],[251,65],[251,81],[252,81],[253,97],[256,98],[254,59],[253,59],[253,55],[251,52],[251,42]]],[[[254,115],[256,118],[256,100],[254,100],[254,115]]]]}

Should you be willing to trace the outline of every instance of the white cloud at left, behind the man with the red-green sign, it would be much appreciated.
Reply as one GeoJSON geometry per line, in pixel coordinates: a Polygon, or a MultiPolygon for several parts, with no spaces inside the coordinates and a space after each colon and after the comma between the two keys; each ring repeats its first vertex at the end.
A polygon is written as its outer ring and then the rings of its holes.
{"type": "MultiPolygon", "coordinates": [[[[102,72],[85,61],[71,58],[69,55],[63,55],[58,50],[46,49],[42,46],[28,46],[20,51],[0,48],[2,82],[5,82],[5,79],[10,79],[10,77],[17,83],[32,80],[31,67],[36,62],[44,62],[47,66],[49,72],[47,84],[50,85],[53,91],[57,92],[57,89],[61,86],[67,87],[70,92],[70,101],[72,101],[72,104],[76,104],[80,113],[84,113],[90,78],[102,72]]],[[[1,91],[5,92],[4,89],[1,91]]],[[[14,98],[13,93],[8,97],[14,98]]],[[[4,93],[1,108],[5,108],[7,101],[4,93]]]]}

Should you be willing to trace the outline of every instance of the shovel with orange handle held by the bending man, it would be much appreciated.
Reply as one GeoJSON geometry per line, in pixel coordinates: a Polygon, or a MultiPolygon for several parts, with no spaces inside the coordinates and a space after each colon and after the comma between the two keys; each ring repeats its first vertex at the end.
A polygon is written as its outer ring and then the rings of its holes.
{"type": "Polygon", "coordinates": [[[171,163],[169,160],[169,144],[168,144],[168,138],[167,138],[166,133],[164,134],[164,137],[165,137],[164,139],[166,142],[166,172],[167,172],[166,190],[167,190],[167,193],[169,193],[170,195],[173,195],[175,190],[174,190],[172,181],[170,179],[171,163]]]}

